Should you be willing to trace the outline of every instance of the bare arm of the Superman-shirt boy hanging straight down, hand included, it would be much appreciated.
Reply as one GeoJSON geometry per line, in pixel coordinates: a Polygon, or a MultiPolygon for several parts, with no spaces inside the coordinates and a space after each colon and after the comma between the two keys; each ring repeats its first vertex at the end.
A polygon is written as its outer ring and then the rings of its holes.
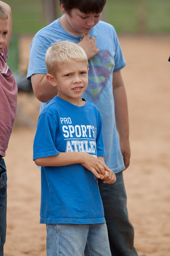
{"type": "Polygon", "coordinates": [[[113,95],[116,128],[119,133],[119,142],[125,168],[128,168],[130,163],[128,104],[120,70],[113,73],[113,95]]]}

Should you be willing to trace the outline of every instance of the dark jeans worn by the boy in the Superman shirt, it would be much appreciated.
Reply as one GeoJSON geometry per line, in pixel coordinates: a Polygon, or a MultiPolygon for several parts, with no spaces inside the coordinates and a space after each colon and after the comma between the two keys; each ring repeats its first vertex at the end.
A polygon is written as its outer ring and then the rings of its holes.
{"type": "Polygon", "coordinates": [[[123,173],[116,173],[114,184],[104,184],[100,179],[98,181],[112,256],[137,256],[133,246],[134,228],[129,221],[126,207],[123,173]]]}

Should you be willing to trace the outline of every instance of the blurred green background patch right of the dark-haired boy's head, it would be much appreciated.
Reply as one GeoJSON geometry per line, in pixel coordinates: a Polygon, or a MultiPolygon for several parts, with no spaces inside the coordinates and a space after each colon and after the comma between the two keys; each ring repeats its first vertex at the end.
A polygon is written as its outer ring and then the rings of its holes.
{"type": "Polygon", "coordinates": [[[170,32],[170,0],[107,0],[105,9],[117,32],[170,32]]]}

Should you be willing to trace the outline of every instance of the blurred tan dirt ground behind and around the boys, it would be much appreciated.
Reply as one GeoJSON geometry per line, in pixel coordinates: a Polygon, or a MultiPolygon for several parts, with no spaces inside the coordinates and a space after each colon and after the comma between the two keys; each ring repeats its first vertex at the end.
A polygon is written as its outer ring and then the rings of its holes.
{"type": "MultiPolygon", "coordinates": [[[[140,256],[169,256],[170,36],[119,35],[119,40],[127,62],[122,76],[132,156],[124,180],[135,247],[140,256]]],[[[36,122],[38,100],[32,94],[19,93],[18,103],[36,122]]],[[[46,228],[39,224],[40,171],[32,160],[35,129],[26,127],[21,119],[19,113],[5,157],[8,209],[4,255],[45,256],[46,228]]]]}

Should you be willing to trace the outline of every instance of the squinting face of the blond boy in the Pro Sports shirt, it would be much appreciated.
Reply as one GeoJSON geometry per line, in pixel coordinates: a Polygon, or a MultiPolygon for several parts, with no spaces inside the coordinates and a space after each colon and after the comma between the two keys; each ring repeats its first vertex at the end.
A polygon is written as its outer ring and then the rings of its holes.
{"type": "Polygon", "coordinates": [[[66,101],[80,100],[88,85],[88,69],[85,62],[70,60],[63,63],[54,76],[58,96],[66,101]]]}

